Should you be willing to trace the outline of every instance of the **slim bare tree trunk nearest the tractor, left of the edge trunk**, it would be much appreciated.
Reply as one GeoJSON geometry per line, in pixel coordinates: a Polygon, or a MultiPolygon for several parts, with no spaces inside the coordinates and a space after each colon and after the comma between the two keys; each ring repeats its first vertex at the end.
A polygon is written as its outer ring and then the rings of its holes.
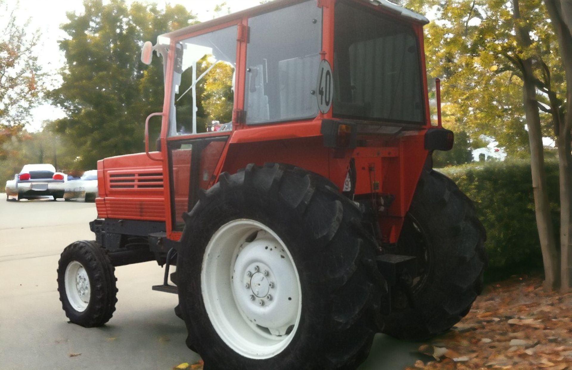
{"type": "Polygon", "coordinates": [[[550,217],[550,202],[546,187],[546,171],[544,166],[544,151],[540,116],[536,100],[536,87],[532,79],[532,63],[530,59],[523,61],[526,74],[523,76],[523,102],[526,112],[526,124],[529,128],[530,169],[533,177],[534,210],[537,219],[538,236],[544,263],[545,288],[554,289],[558,286],[559,266],[554,229],[550,217]]]}

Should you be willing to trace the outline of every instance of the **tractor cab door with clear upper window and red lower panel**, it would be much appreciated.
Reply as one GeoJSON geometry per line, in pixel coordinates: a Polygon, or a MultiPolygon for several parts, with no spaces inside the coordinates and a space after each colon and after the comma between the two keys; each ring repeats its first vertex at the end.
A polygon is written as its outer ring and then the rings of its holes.
{"type": "Polygon", "coordinates": [[[166,127],[170,231],[182,231],[182,215],[192,210],[199,191],[215,182],[232,135],[239,25],[240,20],[229,22],[171,43],[166,127]]]}

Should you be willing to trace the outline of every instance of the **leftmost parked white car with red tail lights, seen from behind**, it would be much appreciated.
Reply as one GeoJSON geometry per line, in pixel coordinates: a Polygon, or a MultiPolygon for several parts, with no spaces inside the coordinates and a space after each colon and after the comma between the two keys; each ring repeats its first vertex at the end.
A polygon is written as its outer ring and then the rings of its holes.
{"type": "Polygon", "coordinates": [[[26,164],[14,180],[6,182],[6,200],[63,198],[67,175],[56,172],[51,164],[26,164]]]}

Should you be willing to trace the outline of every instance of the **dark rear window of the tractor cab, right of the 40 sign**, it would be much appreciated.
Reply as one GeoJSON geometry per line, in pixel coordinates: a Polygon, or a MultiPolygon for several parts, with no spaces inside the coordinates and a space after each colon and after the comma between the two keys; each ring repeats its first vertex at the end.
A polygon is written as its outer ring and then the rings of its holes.
{"type": "Polygon", "coordinates": [[[423,123],[418,38],[406,23],[336,3],[333,115],[423,123]]]}

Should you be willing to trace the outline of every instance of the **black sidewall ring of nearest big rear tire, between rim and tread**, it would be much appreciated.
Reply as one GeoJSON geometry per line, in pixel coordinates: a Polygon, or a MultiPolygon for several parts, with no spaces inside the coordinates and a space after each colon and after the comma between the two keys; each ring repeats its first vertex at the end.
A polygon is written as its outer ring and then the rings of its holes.
{"type": "MultiPolygon", "coordinates": [[[[190,309],[190,315],[195,318],[190,320],[192,328],[189,332],[201,333],[201,340],[194,343],[205,363],[209,360],[225,359],[228,369],[257,368],[261,365],[269,369],[273,368],[299,368],[300,363],[291,354],[309,357],[312,352],[319,350],[323,338],[320,337],[321,328],[324,327],[326,316],[324,307],[327,300],[320,296],[320,289],[311,284],[309,279],[317,278],[318,274],[308,271],[308,265],[312,264],[312,253],[316,252],[320,246],[312,245],[310,235],[305,233],[303,224],[297,213],[284,207],[277,199],[268,199],[261,194],[244,194],[243,192],[231,192],[224,194],[224,200],[220,199],[214,203],[220,204],[224,208],[225,216],[220,217],[218,207],[212,207],[201,213],[200,225],[197,225],[197,235],[193,238],[193,252],[188,254],[189,258],[183,257],[181,263],[184,264],[190,276],[190,287],[193,291],[200,292],[201,289],[201,267],[204,251],[212,236],[221,226],[236,219],[251,219],[269,227],[285,244],[290,252],[296,270],[300,278],[302,290],[301,317],[297,325],[296,332],[287,348],[284,348],[278,355],[267,360],[248,359],[238,355],[233,349],[220,339],[220,336],[210,324],[208,313],[204,307],[202,295],[193,293],[186,299],[185,305],[190,309]],[[234,194],[233,194],[234,193],[234,194]],[[244,198],[243,198],[244,196],[244,198]],[[241,201],[251,200],[258,204],[251,204],[244,207],[241,201]],[[312,277],[311,277],[312,276],[312,277]],[[194,297],[194,299],[193,299],[194,297]],[[190,298],[190,299],[189,299],[190,298]],[[308,320],[311,318],[311,320],[308,320]],[[305,354],[305,355],[304,355],[305,354]],[[289,364],[290,363],[290,364],[289,364]]],[[[180,268],[177,268],[180,270],[180,268]]],[[[320,270],[320,269],[316,269],[320,270]]],[[[317,271],[316,271],[317,272],[317,271]]],[[[180,279],[180,277],[178,277],[180,279]]],[[[323,292],[323,291],[322,291],[323,292]]],[[[185,315],[185,313],[184,313],[185,315]]],[[[189,322],[189,320],[185,320],[189,322]]],[[[315,368],[315,364],[307,364],[308,368],[315,368]]]]}

